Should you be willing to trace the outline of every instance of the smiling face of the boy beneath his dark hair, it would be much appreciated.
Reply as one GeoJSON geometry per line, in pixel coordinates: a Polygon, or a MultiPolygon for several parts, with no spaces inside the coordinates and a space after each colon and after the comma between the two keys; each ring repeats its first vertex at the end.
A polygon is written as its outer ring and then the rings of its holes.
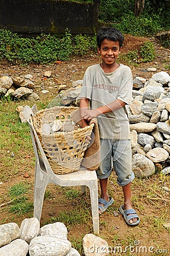
{"type": "Polygon", "coordinates": [[[98,53],[101,55],[103,63],[113,65],[116,63],[121,48],[119,48],[119,42],[104,39],[101,48],[98,48],[98,53]]]}

